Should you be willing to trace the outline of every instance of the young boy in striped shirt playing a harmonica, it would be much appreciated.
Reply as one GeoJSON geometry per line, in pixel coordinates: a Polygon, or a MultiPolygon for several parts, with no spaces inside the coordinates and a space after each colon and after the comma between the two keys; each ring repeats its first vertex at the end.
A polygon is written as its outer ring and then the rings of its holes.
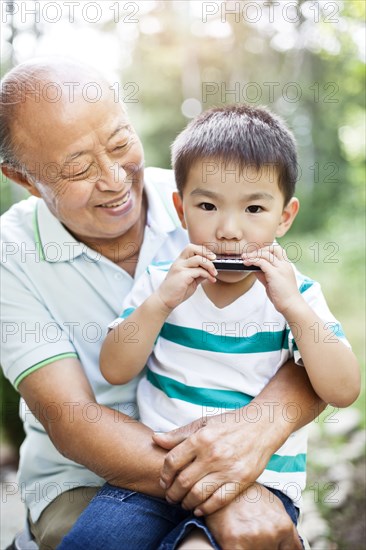
{"type": "MultiPolygon", "coordinates": [[[[138,405],[154,431],[248,404],[289,356],[306,368],[324,401],[352,403],[357,361],[319,285],[294,268],[275,240],[299,209],[291,133],[263,108],[228,106],[191,122],[172,151],[173,201],[191,244],[136,283],[104,342],[104,377],[124,384],[147,365],[138,405]],[[239,258],[243,270],[217,270],[217,256],[239,258]]],[[[295,525],[305,459],[302,429],[257,480],[281,498],[295,525]]],[[[215,546],[206,534],[207,547],[215,546]]],[[[196,529],[179,548],[198,548],[200,539],[196,529]]]]}

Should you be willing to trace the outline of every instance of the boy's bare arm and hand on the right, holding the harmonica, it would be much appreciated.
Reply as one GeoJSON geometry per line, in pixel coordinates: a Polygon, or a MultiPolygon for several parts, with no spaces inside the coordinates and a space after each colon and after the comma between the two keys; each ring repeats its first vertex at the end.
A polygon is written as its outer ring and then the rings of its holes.
{"type": "Polygon", "coordinates": [[[257,250],[255,256],[248,254],[245,261],[261,268],[257,277],[277,311],[293,329],[310,382],[319,397],[337,407],[351,405],[360,392],[357,359],[331,330],[334,323],[324,323],[306,302],[285,251],[279,245],[266,247],[257,250]]]}

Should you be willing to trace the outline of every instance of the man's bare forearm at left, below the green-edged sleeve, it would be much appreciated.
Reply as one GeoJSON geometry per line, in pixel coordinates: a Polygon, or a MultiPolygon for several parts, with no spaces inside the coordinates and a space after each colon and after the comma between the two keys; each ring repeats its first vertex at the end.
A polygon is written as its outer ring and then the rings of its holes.
{"type": "Polygon", "coordinates": [[[154,445],[149,428],[103,405],[97,405],[100,419],[88,421],[85,405],[96,400],[77,359],[42,367],[19,391],[61,454],[113,485],[164,496],[159,476],[166,452],[154,445]],[[50,403],[61,411],[57,419],[44,414],[50,403]]]}

